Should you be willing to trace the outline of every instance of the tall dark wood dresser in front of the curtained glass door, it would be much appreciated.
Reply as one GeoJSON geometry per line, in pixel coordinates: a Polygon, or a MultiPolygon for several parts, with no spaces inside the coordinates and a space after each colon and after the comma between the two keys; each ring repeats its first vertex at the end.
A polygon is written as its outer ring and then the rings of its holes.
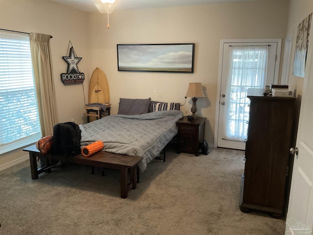
{"type": "Polygon", "coordinates": [[[294,97],[264,96],[249,89],[249,125],[245,173],[242,175],[240,210],[283,214],[294,97]]]}

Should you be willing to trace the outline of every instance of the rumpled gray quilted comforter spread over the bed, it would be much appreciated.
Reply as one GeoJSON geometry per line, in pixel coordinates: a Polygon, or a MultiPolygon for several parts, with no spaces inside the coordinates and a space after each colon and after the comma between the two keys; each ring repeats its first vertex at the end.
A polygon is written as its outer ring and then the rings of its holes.
{"type": "Polygon", "coordinates": [[[178,110],[158,111],[141,115],[111,115],[79,125],[82,144],[103,141],[104,151],[141,156],[140,171],[156,158],[177,134],[176,121],[183,117],[178,110]]]}

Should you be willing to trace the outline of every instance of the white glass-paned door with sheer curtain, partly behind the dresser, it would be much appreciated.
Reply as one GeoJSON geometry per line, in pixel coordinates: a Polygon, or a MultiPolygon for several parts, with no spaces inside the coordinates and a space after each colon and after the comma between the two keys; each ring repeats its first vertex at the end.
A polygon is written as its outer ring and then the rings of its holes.
{"type": "Polygon", "coordinates": [[[220,91],[218,91],[217,147],[246,148],[249,120],[248,88],[277,84],[280,40],[223,45],[220,91]],[[242,63],[244,62],[244,63],[242,63]]]}

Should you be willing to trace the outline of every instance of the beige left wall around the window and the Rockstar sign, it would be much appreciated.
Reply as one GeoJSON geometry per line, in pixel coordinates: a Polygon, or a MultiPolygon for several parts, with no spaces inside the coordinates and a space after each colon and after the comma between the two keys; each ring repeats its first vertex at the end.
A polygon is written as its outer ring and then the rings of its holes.
{"type": "MultiPolygon", "coordinates": [[[[0,28],[53,36],[50,45],[59,122],[70,121],[71,118],[80,123],[85,121],[82,86],[64,86],[60,74],[67,71],[62,56],[67,56],[70,40],[77,56],[83,58],[78,68],[87,77],[90,76],[87,27],[87,13],[47,0],[0,0],[0,28]]],[[[88,97],[88,82],[85,83],[85,88],[88,97]]],[[[18,151],[0,157],[0,170],[23,161],[25,156],[26,152],[18,151]]]]}

